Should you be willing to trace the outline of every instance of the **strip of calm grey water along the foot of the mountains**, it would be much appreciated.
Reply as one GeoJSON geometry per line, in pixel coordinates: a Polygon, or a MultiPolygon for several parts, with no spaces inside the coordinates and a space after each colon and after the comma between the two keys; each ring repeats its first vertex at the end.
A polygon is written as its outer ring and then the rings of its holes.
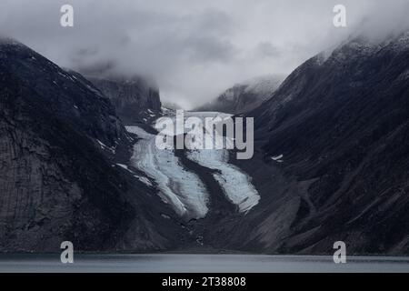
{"type": "Polygon", "coordinates": [[[409,273],[409,257],[350,256],[334,264],[332,256],[256,255],[77,255],[62,264],[59,255],[0,255],[0,272],[270,273],[399,272],[409,273]]]}

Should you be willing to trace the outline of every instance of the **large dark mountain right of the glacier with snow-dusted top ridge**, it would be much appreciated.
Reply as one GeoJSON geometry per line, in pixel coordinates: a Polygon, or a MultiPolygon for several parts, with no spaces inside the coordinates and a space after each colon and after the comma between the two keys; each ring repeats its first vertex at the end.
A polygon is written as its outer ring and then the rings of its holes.
{"type": "Polygon", "coordinates": [[[247,114],[255,155],[236,164],[261,201],[214,228],[219,244],[331,254],[341,240],[351,255],[409,254],[408,96],[409,33],[357,37],[299,66],[247,114]]]}

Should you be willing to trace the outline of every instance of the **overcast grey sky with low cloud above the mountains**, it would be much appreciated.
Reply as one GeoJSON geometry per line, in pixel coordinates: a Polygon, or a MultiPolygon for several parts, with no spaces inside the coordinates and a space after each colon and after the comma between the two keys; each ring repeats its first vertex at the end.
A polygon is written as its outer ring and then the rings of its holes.
{"type": "MultiPolygon", "coordinates": [[[[152,75],[163,100],[203,104],[234,83],[289,74],[366,19],[406,25],[408,0],[0,0],[0,32],[58,65],[152,75]],[[60,26],[60,7],[75,26],[60,26]],[[347,7],[335,28],[333,7],[347,7]]],[[[387,28],[389,29],[389,27],[387,28]]]]}

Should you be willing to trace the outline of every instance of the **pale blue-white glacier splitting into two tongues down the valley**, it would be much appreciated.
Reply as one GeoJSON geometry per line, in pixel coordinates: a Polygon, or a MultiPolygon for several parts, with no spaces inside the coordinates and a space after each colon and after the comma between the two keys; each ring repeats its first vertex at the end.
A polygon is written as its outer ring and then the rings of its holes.
{"type": "MultiPolygon", "coordinates": [[[[206,117],[224,119],[231,115],[219,112],[185,112],[185,119],[192,116],[205,120],[206,117]]],[[[175,115],[167,117],[175,120],[175,115]]],[[[158,126],[161,126],[161,118],[157,120],[156,127],[158,126]]],[[[205,217],[209,211],[209,194],[200,177],[185,169],[173,149],[158,148],[155,144],[156,135],[147,133],[139,126],[126,126],[126,130],[140,138],[134,146],[131,165],[155,181],[162,200],[173,206],[180,216],[195,219],[205,217]]],[[[225,143],[224,136],[217,133],[210,135],[205,126],[191,128],[188,133],[194,133],[196,130],[204,132],[203,142],[213,136],[214,145],[225,143]]],[[[186,131],[185,128],[185,133],[186,131]]],[[[260,196],[251,177],[229,163],[227,149],[195,149],[186,150],[185,153],[189,160],[214,170],[214,180],[222,187],[226,198],[237,206],[239,212],[246,214],[258,204],[260,196]]]]}

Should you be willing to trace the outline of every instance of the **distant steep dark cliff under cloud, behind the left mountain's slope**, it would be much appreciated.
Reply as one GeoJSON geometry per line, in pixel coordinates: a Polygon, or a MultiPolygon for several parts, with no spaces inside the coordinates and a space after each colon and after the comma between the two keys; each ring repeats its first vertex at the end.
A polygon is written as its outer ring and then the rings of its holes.
{"type": "Polygon", "coordinates": [[[111,100],[116,113],[127,125],[146,123],[161,112],[159,90],[145,78],[85,77],[111,100]]]}

